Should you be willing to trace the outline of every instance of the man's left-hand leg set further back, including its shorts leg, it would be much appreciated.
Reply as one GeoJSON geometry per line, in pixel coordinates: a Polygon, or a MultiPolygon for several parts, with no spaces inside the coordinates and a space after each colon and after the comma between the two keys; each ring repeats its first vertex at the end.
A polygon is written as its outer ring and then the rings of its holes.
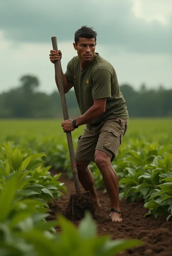
{"type": "Polygon", "coordinates": [[[98,141],[98,134],[85,129],[83,135],[79,137],[75,159],[77,164],[79,182],[85,191],[90,191],[95,204],[100,207],[97,193],[94,186],[93,174],[88,167],[94,161],[95,147],[98,141]]]}

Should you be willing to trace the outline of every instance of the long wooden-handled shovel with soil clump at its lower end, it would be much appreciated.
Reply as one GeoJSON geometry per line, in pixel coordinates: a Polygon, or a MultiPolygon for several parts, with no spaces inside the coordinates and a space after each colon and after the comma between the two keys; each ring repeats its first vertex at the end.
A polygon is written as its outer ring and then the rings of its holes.
{"type": "MultiPolygon", "coordinates": [[[[58,51],[57,38],[55,36],[52,37],[52,45],[53,45],[53,50],[58,51]]],[[[60,92],[64,120],[67,120],[69,119],[69,115],[67,111],[64,86],[63,86],[62,76],[61,76],[60,61],[55,61],[55,68],[56,68],[57,81],[58,81],[58,87],[60,92]]],[[[67,144],[69,148],[71,168],[72,168],[76,193],[70,195],[70,200],[64,212],[64,216],[67,219],[70,219],[72,221],[80,220],[84,217],[85,211],[90,211],[93,218],[95,218],[95,208],[94,208],[94,203],[93,203],[93,199],[91,197],[90,191],[86,191],[86,193],[82,193],[81,188],[79,186],[78,171],[77,171],[77,166],[75,161],[75,154],[74,154],[74,147],[73,147],[71,132],[70,131],[66,132],[66,136],[67,136],[67,144]]]]}

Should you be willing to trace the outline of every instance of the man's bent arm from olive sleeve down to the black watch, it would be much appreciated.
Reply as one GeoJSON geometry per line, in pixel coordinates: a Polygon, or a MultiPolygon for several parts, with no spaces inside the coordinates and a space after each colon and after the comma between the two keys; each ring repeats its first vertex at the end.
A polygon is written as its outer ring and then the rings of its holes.
{"type": "Polygon", "coordinates": [[[98,69],[93,74],[93,85],[91,88],[94,104],[76,119],[76,125],[84,125],[105,113],[106,101],[111,97],[111,73],[106,69],[98,69]]]}

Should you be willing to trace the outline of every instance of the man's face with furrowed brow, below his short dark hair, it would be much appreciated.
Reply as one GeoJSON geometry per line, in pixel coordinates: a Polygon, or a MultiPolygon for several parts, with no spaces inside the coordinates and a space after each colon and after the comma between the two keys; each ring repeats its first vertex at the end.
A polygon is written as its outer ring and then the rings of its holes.
{"type": "Polygon", "coordinates": [[[79,37],[78,44],[73,43],[73,46],[81,60],[90,61],[93,59],[96,46],[94,38],[79,37]]]}

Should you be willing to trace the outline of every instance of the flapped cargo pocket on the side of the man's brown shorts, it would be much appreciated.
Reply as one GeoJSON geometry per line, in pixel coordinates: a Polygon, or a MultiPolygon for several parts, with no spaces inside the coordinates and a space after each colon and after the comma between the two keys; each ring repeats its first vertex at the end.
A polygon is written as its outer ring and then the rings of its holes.
{"type": "Polygon", "coordinates": [[[122,143],[122,134],[120,131],[114,130],[112,127],[107,128],[107,134],[105,138],[104,147],[107,150],[110,150],[114,157],[118,155],[119,147],[122,143]]]}

